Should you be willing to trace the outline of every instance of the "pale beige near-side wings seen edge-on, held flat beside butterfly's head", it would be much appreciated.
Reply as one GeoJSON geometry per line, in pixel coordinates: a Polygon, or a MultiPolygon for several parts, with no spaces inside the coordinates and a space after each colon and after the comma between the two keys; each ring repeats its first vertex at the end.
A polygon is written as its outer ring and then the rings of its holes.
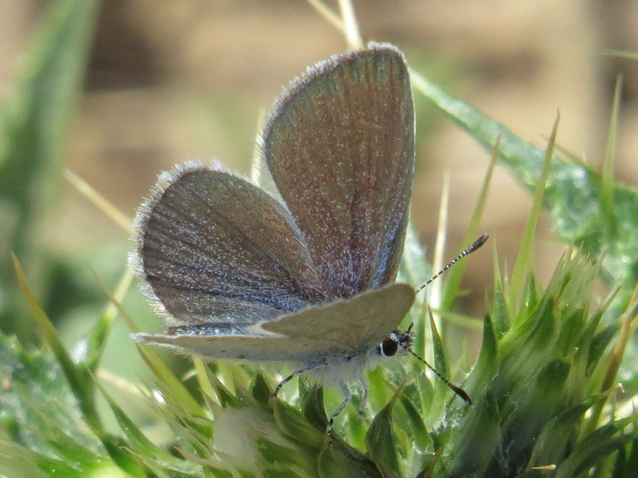
{"type": "Polygon", "coordinates": [[[364,354],[380,344],[397,328],[413,301],[414,289],[399,283],[253,324],[244,335],[229,327],[212,330],[214,324],[206,324],[199,333],[131,336],[138,342],[213,358],[315,363],[330,356],[364,354]]]}

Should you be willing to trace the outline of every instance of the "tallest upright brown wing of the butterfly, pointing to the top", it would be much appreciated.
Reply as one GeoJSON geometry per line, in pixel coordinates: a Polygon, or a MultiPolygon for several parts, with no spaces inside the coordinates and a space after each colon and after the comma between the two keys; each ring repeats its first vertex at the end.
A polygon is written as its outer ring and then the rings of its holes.
{"type": "Polygon", "coordinates": [[[329,295],[394,281],[414,173],[401,52],[371,44],[309,68],[276,101],[261,141],[329,295]]]}

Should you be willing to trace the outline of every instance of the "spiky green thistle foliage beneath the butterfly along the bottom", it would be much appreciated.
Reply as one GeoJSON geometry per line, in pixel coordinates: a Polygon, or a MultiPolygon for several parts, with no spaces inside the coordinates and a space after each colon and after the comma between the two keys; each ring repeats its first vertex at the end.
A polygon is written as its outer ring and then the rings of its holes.
{"type": "MultiPolygon", "coordinates": [[[[182,460],[148,440],[122,411],[122,398],[107,397],[121,437],[91,424],[99,417],[87,421],[78,406],[86,400],[82,390],[93,387],[91,375],[83,375],[84,387],[67,386],[61,378],[69,382],[68,370],[5,338],[0,409],[12,441],[0,442],[0,473],[55,476],[50,470],[56,468],[64,476],[87,476],[99,468],[140,477],[398,478],[523,477],[534,476],[533,467],[548,466],[561,477],[629,470],[635,461],[634,412],[615,417],[607,409],[599,424],[582,433],[585,412],[609,396],[597,390],[606,369],[602,351],[615,335],[601,326],[610,301],[590,305],[599,269],[581,252],[568,251],[545,289],[528,276],[513,318],[507,317],[512,310],[507,276],[497,277],[479,358],[463,385],[473,405],[438,379],[431,381],[417,360],[403,359],[368,374],[371,390],[383,393],[371,394],[364,418],[346,407],[332,445],[325,414],[332,405],[324,405],[322,387],[300,380],[297,389],[288,384],[283,390],[298,398],[280,400],[272,398],[273,379],[263,373],[218,363],[200,377],[213,395],[196,412],[177,398],[184,394],[182,385],[167,380],[152,355],[163,398],[154,406],[172,427],[182,460]],[[220,380],[229,376],[235,380],[220,380]],[[52,408],[44,396],[57,397],[60,406],[52,408]],[[366,430],[362,443],[352,423],[366,430]],[[27,455],[38,460],[27,465],[18,458],[27,455]],[[18,463],[33,474],[17,472],[18,463]]],[[[447,370],[449,358],[438,334],[433,337],[435,363],[447,370]]]]}

